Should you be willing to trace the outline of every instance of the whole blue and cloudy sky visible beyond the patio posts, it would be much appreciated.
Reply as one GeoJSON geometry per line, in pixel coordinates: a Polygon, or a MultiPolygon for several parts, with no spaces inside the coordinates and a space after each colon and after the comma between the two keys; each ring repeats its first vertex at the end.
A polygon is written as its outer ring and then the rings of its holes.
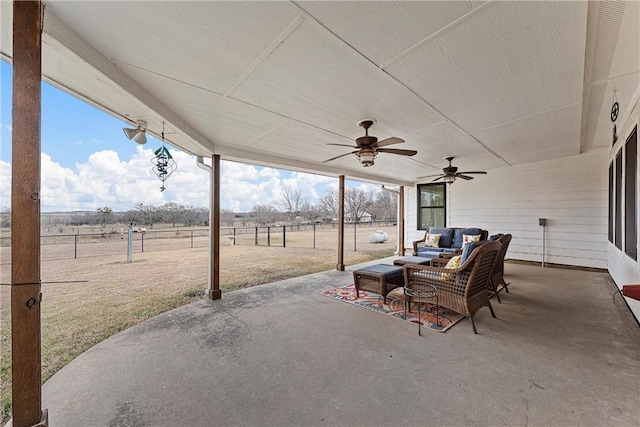
{"type": "MultiPolygon", "coordinates": [[[[11,106],[12,67],[0,61],[0,210],[11,205],[11,106]]],[[[41,211],[94,211],[110,207],[128,211],[136,205],[160,206],[175,202],[208,207],[209,176],[197,167],[194,156],[167,145],[178,167],[161,181],[151,159],[162,141],[147,135],[140,145],[128,140],[123,127],[130,124],[42,83],[41,211]]],[[[379,187],[357,181],[347,186],[378,191],[379,187]]],[[[256,205],[277,207],[286,187],[300,189],[311,203],[338,179],[237,162],[221,162],[222,209],[248,212],[256,205]]]]}

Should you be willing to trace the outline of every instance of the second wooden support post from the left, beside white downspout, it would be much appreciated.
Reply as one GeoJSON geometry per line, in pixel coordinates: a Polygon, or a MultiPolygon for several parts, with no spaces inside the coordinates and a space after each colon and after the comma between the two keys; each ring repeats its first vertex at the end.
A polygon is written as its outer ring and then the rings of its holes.
{"type": "Polygon", "coordinates": [[[211,289],[207,294],[209,299],[216,300],[222,298],[220,290],[220,155],[214,154],[211,157],[211,215],[209,227],[211,241],[211,289]]]}

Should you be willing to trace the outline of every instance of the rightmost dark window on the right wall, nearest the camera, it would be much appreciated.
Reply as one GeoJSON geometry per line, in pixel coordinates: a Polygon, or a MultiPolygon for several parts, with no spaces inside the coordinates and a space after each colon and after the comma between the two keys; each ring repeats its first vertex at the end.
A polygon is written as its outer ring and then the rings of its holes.
{"type": "Polygon", "coordinates": [[[624,148],[624,251],[633,259],[638,257],[636,231],[636,174],[638,158],[638,128],[627,139],[624,148]]]}

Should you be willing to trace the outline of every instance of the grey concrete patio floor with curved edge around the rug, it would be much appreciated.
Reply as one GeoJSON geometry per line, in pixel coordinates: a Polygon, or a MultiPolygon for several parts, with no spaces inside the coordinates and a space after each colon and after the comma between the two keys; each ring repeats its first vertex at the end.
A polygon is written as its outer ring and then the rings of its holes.
{"type": "Polygon", "coordinates": [[[507,264],[511,293],[492,299],[497,319],[478,313],[478,335],[464,319],[420,337],[321,295],[355,268],[103,341],[43,386],[50,425],[640,425],[640,328],[608,274],[507,264]]]}

